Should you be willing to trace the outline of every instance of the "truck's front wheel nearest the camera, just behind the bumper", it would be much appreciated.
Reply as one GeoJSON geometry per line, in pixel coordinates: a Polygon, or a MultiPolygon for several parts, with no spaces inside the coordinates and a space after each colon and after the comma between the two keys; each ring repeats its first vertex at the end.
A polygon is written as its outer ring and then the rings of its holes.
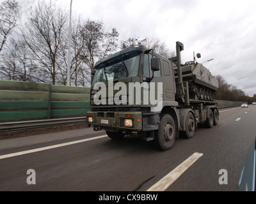
{"type": "Polygon", "coordinates": [[[155,142],[160,150],[169,150],[172,148],[176,136],[175,122],[171,115],[163,115],[156,131],[155,142]]]}

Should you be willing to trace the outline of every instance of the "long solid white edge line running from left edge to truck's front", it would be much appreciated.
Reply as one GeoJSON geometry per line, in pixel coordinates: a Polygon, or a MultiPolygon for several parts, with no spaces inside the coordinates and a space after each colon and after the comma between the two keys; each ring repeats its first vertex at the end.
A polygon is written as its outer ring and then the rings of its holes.
{"type": "Polygon", "coordinates": [[[74,144],[77,144],[77,143],[88,142],[88,141],[92,141],[92,140],[98,140],[98,139],[101,139],[101,138],[106,138],[107,136],[108,135],[96,136],[94,138],[88,138],[88,139],[84,139],[84,140],[77,140],[77,141],[74,141],[74,142],[62,143],[62,144],[59,144],[59,145],[51,145],[51,146],[48,146],[48,147],[41,147],[41,148],[38,148],[38,149],[31,149],[31,150],[26,150],[26,151],[22,151],[22,152],[15,152],[15,153],[12,153],[12,154],[5,154],[5,155],[1,155],[0,159],[6,159],[6,158],[20,156],[20,155],[24,155],[24,154],[40,152],[40,151],[54,149],[54,148],[58,148],[58,147],[65,147],[65,146],[68,146],[68,145],[74,145],[74,144]]]}

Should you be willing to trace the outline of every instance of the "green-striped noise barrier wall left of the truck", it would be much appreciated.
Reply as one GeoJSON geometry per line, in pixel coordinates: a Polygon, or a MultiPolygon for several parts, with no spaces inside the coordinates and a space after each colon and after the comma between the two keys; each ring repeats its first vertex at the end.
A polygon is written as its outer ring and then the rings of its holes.
{"type": "Polygon", "coordinates": [[[0,80],[0,122],[84,117],[90,88],[0,80]]]}

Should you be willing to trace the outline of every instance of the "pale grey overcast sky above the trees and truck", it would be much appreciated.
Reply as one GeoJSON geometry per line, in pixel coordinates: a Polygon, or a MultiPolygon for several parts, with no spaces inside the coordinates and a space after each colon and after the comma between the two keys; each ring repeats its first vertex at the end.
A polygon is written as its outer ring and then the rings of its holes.
{"type": "MultiPolygon", "coordinates": [[[[58,2],[70,5],[70,0],[58,2]]],[[[115,27],[120,40],[154,36],[170,50],[180,41],[183,63],[200,52],[198,62],[214,58],[204,64],[212,75],[256,94],[255,0],[73,0],[73,14],[115,27]]]]}

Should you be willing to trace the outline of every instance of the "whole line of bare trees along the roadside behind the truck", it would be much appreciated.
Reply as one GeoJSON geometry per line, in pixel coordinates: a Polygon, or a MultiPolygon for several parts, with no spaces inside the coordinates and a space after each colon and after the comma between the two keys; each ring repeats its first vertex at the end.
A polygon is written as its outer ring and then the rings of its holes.
{"type": "MultiPolygon", "coordinates": [[[[0,4],[0,79],[67,85],[68,8],[52,1],[38,0],[21,13],[15,0],[0,4]]],[[[137,36],[120,40],[115,27],[106,29],[100,20],[73,17],[71,34],[71,85],[89,87],[95,63],[132,45],[154,48],[166,58],[173,57],[158,38],[137,36]]],[[[216,76],[220,89],[217,99],[249,101],[243,91],[216,76]]]]}

